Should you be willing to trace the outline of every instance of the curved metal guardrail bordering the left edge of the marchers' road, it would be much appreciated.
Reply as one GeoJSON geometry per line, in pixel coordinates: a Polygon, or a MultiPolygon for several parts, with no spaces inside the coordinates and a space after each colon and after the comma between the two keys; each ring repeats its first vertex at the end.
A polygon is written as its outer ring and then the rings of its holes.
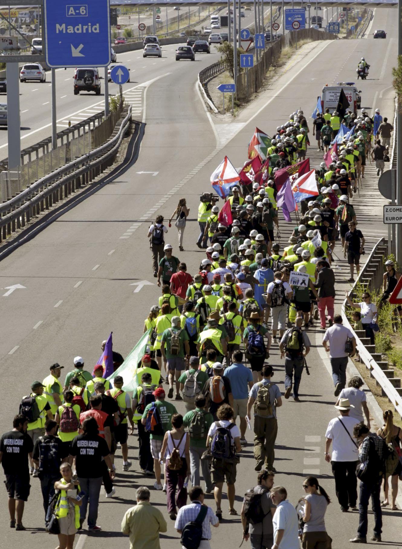
{"type": "MultiPolygon", "coordinates": [[[[115,135],[101,147],[69,161],[33,183],[16,197],[0,204],[0,242],[25,227],[33,217],[48,210],[59,200],[91,183],[113,164],[123,137],[130,127],[131,105],[128,108],[123,107],[121,116],[124,116],[124,119],[114,128],[115,135]]],[[[107,124],[110,126],[111,122],[107,124]]]]}

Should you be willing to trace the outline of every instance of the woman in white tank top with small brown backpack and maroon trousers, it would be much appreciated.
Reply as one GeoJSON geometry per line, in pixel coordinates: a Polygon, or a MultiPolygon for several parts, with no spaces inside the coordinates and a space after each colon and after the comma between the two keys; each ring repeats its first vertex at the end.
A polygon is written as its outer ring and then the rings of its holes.
{"type": "Polygon", "coordinates": [[[176,520],[176,505],[180,509],[187,502],[187,484],[190,476],[190,436],[185,432],[183,416],[171,417],[172,429],[167,431],[160,450],[160,464],[165,464],[166,498],[171,520],[176,520]],[[177,490],[177,494],[176,494],[177,490]]]}

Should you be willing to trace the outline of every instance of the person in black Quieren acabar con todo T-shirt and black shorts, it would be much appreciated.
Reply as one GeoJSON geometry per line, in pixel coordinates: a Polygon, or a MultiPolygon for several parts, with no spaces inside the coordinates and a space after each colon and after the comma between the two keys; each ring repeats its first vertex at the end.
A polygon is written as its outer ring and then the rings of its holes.
{"type": "Polygon", "coordinates": [[[16,530],[25,530],[22,515],[31,490],[28,456],[32,459],[33,442],[26,433],[27,426],[28,420],[25,416],[15,416],[13,430],[4,433],[0,439],[0,463],[3,466],[4,484],[8,493],[10,528],[16,530]]]}

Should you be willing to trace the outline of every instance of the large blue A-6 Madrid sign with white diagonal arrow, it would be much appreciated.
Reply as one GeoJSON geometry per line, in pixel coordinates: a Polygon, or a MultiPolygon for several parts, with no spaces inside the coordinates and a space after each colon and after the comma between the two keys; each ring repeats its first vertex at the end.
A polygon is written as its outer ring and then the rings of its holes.
{"type": "Polygon", "coordinates": [[[50,67],[110,63],[109,0],[44,0],[46,63],[50,67]]]}

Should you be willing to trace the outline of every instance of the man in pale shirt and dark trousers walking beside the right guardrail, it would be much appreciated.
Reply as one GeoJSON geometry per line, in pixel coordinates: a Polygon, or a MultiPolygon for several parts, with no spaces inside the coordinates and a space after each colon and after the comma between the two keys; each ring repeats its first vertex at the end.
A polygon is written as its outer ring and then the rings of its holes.
{"type": "Polygon", "coordinates": [[[334,380],[334,395],[338,396],[346,386],[346,367],[348,365],[348,353],[345,352],[346,341],[352,340],[353,356],[356,352],[356,340],[349,328],[343,326],[342,316],[334,316],[334,324],[326,330],[323,337],[323,347],[329,352],[332,368],[332,379],[334,380]],[[329,346],[327,345],[329,343],[329,346]]]}

